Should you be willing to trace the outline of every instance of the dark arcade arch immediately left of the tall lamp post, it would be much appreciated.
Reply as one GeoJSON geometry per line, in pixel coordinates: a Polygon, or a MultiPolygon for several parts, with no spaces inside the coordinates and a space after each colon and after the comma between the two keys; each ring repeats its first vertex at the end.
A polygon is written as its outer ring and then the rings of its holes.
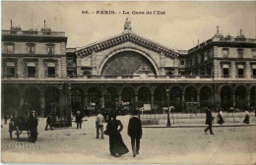
{"type": "Polygon", "coordinates": [[[159,109],[166,107],[166,88],[162,85],[158,86],[154,92],[154,104],[158,105],[159,109]]]}

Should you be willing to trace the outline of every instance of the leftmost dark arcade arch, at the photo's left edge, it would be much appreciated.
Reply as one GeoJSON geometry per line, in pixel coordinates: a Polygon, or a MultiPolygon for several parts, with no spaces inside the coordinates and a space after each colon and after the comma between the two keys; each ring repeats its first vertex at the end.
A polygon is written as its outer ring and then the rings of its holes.
{"type": "Polygon", "coordinates": [[[20,110],[20,92],[16,87],[8,86],[2,90],[2,115],[14,115],[20,110]]]}

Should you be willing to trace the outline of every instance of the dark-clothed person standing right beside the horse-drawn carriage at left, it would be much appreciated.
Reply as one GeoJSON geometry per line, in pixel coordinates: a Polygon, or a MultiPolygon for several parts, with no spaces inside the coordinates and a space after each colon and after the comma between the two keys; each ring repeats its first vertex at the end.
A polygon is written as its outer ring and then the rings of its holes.
{"type": "Polygon", "coordinates": [[[33,143],[37,140],[37,126],[38,126],[38,120],[35,115],[35,111],[31,111],[30,117],[30,132],[31,132],[31,140],[33,143]]]}

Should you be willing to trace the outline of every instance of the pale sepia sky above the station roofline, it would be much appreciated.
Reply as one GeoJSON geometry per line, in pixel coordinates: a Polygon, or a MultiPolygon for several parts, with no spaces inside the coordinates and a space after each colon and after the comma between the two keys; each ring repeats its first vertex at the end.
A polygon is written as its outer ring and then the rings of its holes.
{"type": "Polygon", "coordinates": [[[65,31],[67,47],[84,47],[123,32],[125,19],[133,32],[171,49],[187,50],[213,37],[217,26],[227,35],[256,38],[256,2],[2,2],[2,29],[46,27],[65,31]],[[114,11],[100,15],[96,11],[114,11]],[[89,14],[82,14],[89,11],[89,14]],[[130,12],[124,15],[123,11],[130,12]],[[134,15],[162,11],[164,15],[134,15]],[[95,13],[93,13],[95,12],[95,13]],[[120,12],[120,13],[119,13],[120,12]]]}

